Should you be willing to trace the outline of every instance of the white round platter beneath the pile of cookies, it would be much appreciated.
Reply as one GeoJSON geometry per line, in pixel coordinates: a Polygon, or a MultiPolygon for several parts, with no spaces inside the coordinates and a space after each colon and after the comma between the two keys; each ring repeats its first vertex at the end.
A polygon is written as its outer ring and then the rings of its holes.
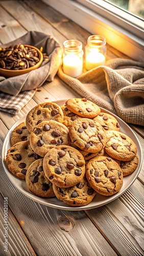
{"type": "MultiPolygon", "coordinates": [[[[55,101],[55,103],[57,103],[58,105],[61,106],[62,104],[65,103],[65,100],[55,101]]],[[[32,199],[32,200],[34,200],[34,201],[36,201],[40,204],[50,206],[50,207],[53,207],[53,208],[57,208],[57,209],[62,209],[62,210],[86,210],[86,209],[96,208],[96,207],[105,205],[105,204],[115,200],[116,198],[120,197],[123,193],[125,193],[125,191],[136,180],[136,178],[137,178],[137,176],[140,172],[140,168],[141,168],[141,164],[142,164],[141,146],[140,146],[140,143],[138,141],[138,138],[136,137],[136,135],[134,134],[132,129],[121,118],[117,117],[116,115],[112,114],[111,112],[109,112],[109,111],[107,111],[103,108],[101,108],[101,111],[113,115],[117,119],[119,124],[121,125],[119,131],[124,133],[124,134],[127,134],[135,142],[135,144],[137,146],[137,156],[138,156],[138,159],[139,159],[138,166],[132,174],[124,177],[123,186],[117,194],[115,194],[113,196],[110,196],[110,197],[106,197],[106,196],[102,196],[102,195],[97,193],[96,196],[93,198],[93,200],[88,205],[81,206],[81,207],[71,207],[71,206],[68,206],[68,205],[64,204],[63,202],[61,202],[57,198],[41,198],[41,197],[38,197],[38,196],[34,195],[33,193],[31,193],[31,191],[28,189],[28,187],[26,185],[25,180],[20,180],[20,179],[16,178],[12,173],[9,172],[9,169],[7,167],[6,160],[5,160],[6,155],[7,155],[7,151],[12,146],[11,145],[11,134],[14,130],[14,127],[16,127],[19,123],[25,121],[26,116],[20,118],[11,127],[11,129],[9,130],[9,132],[8,132],[6,138],[5,138],[4,144],[3,144],[3,151],[2,151],[3,166],[4,166],[4,169],[5,169],[5,172],[6,172],[7,176],[9,177],[10,181],[12,182],[12,184],[26,197],[28,197],[28,198],[30,198],[30,199],[32,199]]]]}

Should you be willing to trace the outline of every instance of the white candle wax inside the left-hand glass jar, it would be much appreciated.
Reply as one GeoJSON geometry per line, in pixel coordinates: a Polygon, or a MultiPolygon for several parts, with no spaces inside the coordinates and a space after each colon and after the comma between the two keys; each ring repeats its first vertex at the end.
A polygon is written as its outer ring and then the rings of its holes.
{"type": "Polygon", "coordinates": [[[63,72],[71,77],[80,76],[83,72],[83,61],[74,53],[63,58],[63,72]]]}

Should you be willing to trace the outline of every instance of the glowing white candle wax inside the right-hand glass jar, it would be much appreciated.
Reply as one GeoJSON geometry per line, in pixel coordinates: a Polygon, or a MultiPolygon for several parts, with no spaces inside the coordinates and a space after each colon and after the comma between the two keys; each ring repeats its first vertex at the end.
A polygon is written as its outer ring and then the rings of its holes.
{"type": "Polygon", "coordinates": [[[99,66],[105,65],[105,56],[98,52],[97,49],[93,49],[88,55],[86,56],[85,60],[85,67],[87,70],[97,68],[99,66]]]}

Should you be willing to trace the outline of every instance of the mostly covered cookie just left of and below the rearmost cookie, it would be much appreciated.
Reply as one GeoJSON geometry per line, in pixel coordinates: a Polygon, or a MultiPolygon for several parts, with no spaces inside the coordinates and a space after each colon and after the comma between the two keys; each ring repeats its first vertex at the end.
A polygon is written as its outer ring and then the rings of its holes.
{"type": "Polygon", "coordinates": [[[71,123],[73,123],[74,120],[78,119],[78,118],[82,118],[81,116],[78,116],[76,114],[74,114],[73,112],[71,112],[70,110],[68,110],[66,108],[66,105],[63,104],[61,106],[61,109],[63,111],[63,115],[64,115],[64,118],[63,118],[63,124],[69,129],[69,126],[71,123]]]}

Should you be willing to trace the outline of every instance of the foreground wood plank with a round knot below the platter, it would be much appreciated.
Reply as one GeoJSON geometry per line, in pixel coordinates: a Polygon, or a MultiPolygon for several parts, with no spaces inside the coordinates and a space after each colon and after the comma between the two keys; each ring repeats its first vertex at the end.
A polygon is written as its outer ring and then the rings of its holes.
{"type": "MultiPolygon", "coordinates": [[[[6,134],[3,126],[1,122],[6,134]]],[[[1,148],[2,144],[0,140],[1,148]]],[[[11,184],[2,161],[0,167],[2,195],[8,197],[11,211],[38,255],[116,255],[83,211],[61,211],[32,201],[11,184]],[[70,232],[62,230],[68,231],[66,224],[74,228],[70,232]]]]}

